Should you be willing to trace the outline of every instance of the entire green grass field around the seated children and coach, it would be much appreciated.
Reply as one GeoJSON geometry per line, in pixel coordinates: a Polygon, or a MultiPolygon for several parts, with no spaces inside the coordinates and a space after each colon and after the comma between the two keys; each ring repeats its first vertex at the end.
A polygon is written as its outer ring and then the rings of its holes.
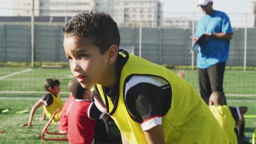
{"type": "MultiPolygon", "coordinates": [[[[173,70],[177,73],[178,70],[173,70]]],[[[61,82],[61,97],[67,98],[67,83],[72,79],[68,68],[8,68],[0,67],[0,98],[34,98],[33,100],[0,99],[0,109],[11,109],[8,113],[0,113],[0,143],[68,143],[63,141],[43,141],[40,133],[47,121],[33,121],[32,127],[21,127],[28,121],[29,113],[15,114],[17,111],[30,110],[36,101],[45,93],[43,87],[46,78],[56,78],[61,82]],[[24,71],[27,70],[27,71],[24,71]]],[[[185,80],[198,88],[196,70],[185,70],[185,80]]],[[[256,115],[256,71],[226,70],[224,91],[228,94],[228,105],[247,106],[247,115],[256,115]],[[240,97],[240,95],[243,97],[240,97]],[[249,94],[249,95],[248,95],[249,94]]],[[[42,116],[43,109],[36,112],[35,117],[42,116]]],[[[246,119],[246,135],[251,137],[256,128],[256,118],[246,119]]],[[[57,127],[51,125],[50,131],[57,127]]]]}

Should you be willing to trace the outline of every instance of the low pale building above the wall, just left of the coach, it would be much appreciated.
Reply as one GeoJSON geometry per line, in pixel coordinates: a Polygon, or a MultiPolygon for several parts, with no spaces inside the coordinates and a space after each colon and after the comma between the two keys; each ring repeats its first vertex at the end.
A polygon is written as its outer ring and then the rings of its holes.
{"type": "MultiPolygon", "coordinates": [[[[193,20],[187,17],[173,17],[165,18],[162,27],[177,27],[177,28],[191,28],[193,26],[193,20]]],[[[195,22],[196,26],[196,22],[195,22]]]]}

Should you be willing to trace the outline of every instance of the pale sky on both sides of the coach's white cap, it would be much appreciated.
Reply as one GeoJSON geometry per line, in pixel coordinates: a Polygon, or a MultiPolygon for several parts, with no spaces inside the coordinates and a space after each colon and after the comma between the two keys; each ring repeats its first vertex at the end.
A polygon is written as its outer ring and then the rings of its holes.
{"type": "MultiPolygon", "coordinates": [[[[163,3],[164,17],[187,17],[199,20],[203,15],[197,0],[159,0],[163,3]],[[195,13],[195,16],[193,15],[195,13]]],[[[253,27],[255,0],[213,0],[213,9],[228,14],[232,27],[253,27]],[[247,14],[247,21],[246,21],[247,14]]]]}

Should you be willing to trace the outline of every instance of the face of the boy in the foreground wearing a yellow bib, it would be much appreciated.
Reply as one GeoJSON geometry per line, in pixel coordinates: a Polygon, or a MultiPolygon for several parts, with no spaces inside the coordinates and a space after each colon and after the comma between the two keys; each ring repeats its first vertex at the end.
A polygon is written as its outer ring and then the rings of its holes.
{"type": "Polygon", "coordinates": [[[104,81],[108,57],[106,52],[101,55],[100,49],[92,44],[90,38],[65,35],[63,46],[71,72],[82,87],[90,88],[104,81]]]}

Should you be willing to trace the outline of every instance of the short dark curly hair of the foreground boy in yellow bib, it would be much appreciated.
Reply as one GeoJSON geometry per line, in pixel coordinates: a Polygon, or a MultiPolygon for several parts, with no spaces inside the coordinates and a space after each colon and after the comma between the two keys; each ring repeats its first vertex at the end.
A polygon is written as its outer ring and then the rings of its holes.
{"type": "Polygon", "coordinates": [[[109,14],[96,10],[77,14],[62,28],[64,35],[89,37],[103,55],[111,45],[120,45],[117,23],[109,14]]]}

